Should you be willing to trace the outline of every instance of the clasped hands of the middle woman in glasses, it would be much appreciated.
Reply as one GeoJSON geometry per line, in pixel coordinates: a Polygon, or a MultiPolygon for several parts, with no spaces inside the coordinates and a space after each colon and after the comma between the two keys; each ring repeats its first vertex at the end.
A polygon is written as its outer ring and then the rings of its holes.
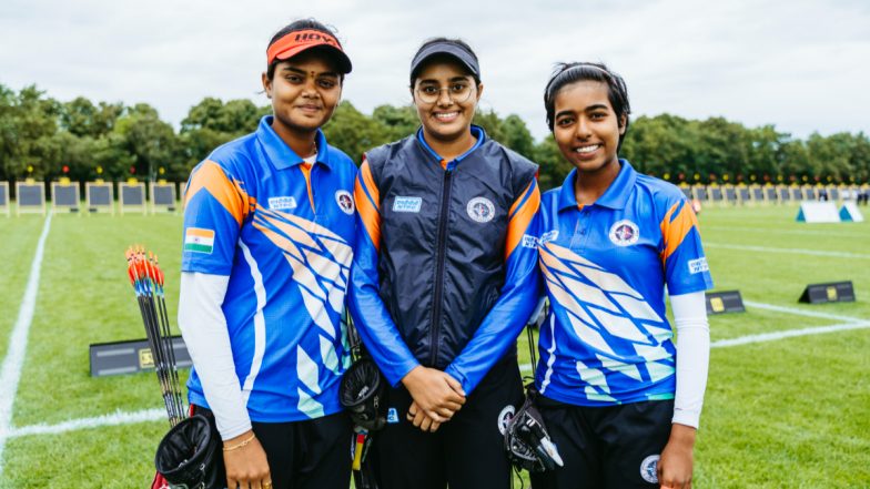
{"type": "Polygon", "coordinates": [[[465,404],[465,391],[459,381],[435,368],[418,365],[402,379],[402,384],[413,399],[407,420],[423,431],[436,431],[465,404]]]}

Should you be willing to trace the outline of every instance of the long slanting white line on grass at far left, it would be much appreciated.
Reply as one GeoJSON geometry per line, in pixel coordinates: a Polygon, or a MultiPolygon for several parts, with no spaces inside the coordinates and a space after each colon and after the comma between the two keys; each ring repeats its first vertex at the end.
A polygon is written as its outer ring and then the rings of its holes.
{"type": "Polygon", "coordinates": [[[33,255],[33,263],[30,265],[30,277],[24,289],[24,297],[21,299],[21,308],[18,310],[18,320],[16,320],[16,326],[12,328],[12,334],[9,337],[9,352],[6,358],[3,358],[3,366],[0,368],[0,476],[3,475],[3,447],[12,427],[12,407],[18,393],[18,383],[21,380],[21,368],[24,365],[28,333],[30,332],[30,323],[33,320],[33,312],[37,306],[42,254],[45,249],[45,238],[50,228],[51,212],[45,217],[42,234],[39,236],[37,253],[33,255]]]}

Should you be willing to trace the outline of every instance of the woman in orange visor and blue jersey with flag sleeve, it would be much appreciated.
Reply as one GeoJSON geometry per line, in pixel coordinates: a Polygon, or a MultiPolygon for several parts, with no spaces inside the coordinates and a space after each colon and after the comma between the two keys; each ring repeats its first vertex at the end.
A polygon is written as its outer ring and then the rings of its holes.
{"type": "Polygon", "coordinates": [[[350,71],[322,23],[279,31],[262,74],[273,114],[190,177],[179,325],[190,401],[216,421],[229,488],[350,485],[337,391],[356,166],[321,132],[350,71]]]}

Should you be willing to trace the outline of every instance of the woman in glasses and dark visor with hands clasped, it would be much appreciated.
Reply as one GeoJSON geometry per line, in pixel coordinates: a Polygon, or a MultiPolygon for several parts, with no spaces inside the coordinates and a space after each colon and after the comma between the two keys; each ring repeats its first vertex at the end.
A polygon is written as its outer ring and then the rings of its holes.
{"type": "Polygon", "coordinates": [[[472,124],[465,42],[411,63],[421,128],[365,154],[351,313],[392,388],[382,489],[505,489],[502,430],[522,401],[516,337],[535,306],[537,165],[472,124]]]}

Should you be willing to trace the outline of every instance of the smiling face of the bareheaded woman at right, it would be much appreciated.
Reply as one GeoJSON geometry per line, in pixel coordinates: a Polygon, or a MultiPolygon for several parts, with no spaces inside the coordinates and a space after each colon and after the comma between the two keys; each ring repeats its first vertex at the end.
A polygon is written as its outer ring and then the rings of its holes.
{"type": "Polygon", "coordinates": [[[614,112],[607,95],[607,85],[598,81],[570,83],[556,94],[553,136],[578,172],[618,172],[616,150],[626,116],[614,112]]]}

